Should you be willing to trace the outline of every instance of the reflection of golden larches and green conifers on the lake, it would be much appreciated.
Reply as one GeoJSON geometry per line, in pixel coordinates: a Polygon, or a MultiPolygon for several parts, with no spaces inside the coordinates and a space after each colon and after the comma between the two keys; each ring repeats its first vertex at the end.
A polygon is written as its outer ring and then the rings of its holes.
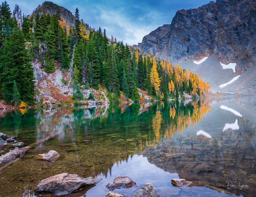
{"type": "Polygon", "coordinates": [[[173,101],[158,105],[156,115],[152,119],[156,141],[159,142],[161,137],[171,138],[175,132],[181,133],[185,127],[193,126],[203,119],[211,109],[205,100],[191,100],[186,104],[183,101],[173,101]]]}

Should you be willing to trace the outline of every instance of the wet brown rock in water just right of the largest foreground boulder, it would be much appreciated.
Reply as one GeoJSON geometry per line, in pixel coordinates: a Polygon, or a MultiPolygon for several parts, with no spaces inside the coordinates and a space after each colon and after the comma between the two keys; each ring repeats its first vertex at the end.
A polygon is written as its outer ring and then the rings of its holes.
{"type": "Polygon", "coordinates": [[[108,190],[113,191],[114,189],[121,189],[121,188],[130,188],[132,186],[135,186],[135,182],[130,179],[127,176],[123,176],[123,177],[116,177],[114,179],[113,183],[108,183],[108,185],[106,186],[106,188],[108,188],[108,190]]]}

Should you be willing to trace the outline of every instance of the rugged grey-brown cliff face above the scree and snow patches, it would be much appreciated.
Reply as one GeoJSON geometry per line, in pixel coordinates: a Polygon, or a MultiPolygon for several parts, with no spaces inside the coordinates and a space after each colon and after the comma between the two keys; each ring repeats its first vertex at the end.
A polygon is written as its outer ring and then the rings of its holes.
{"type": "Polygon", "coordinates": [[[146,35],[138,48],[173,62],[213,55],[243,73],[256,62],[255,29],[255,0],[216,0],[177,11],[171,25],[146,35]]]}

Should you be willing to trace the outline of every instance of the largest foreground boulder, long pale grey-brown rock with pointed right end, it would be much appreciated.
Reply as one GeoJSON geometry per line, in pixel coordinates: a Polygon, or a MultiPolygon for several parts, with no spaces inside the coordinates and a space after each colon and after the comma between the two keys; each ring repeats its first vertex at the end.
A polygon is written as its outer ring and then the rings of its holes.
{"type": "Polygon", "coordinates": [[[64,195],[78,190],[81,187],[99,183],[102,179],[92,177],[82,178],[76,174],[62,173],[42,180],[35,188],[35,193],[53,193],[64,195]]]}

